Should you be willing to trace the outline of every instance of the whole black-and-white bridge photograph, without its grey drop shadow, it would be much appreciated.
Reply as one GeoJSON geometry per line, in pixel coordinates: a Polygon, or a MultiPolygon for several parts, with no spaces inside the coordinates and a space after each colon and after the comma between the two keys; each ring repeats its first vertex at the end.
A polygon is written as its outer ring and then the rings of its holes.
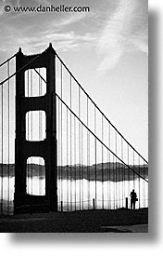
{"type": "Polygon", "coordinates": [[[147,234],[148,181],[148,1],[0,0],[0,232],[147,234]]]}

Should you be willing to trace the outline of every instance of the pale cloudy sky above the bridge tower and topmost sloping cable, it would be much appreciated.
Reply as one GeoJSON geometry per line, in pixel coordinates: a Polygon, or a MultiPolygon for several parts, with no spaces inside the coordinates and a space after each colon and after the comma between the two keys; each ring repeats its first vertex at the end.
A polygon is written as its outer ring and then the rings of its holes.
{"type": "Polygon", "coordinates": [[[57,54],[99,108],[148,158],[147,0],[0,0],[0,62],[22,48],[57,54]],[[90,7],[81,13],[5,12],[4,6],[90,7]]]}

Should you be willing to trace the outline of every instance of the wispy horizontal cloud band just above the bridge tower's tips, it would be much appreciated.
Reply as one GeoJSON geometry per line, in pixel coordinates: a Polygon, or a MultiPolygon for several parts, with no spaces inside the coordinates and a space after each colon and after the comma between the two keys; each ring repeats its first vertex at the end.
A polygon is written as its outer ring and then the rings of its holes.
{"type": "Polygon", "coordinates": [[[45,27],[43,31],[35,32],[33,30],[31,33],[30,27],[21,30],[7,24],[6,29],[1,34],[6,41],[6,44],[4,44],[4,40],[0,41],[1,50],[17,51],[19,47],[22,47],[26,54],[43,51],[44,48],[48,47],[49,42],[59,51],[77,50],[94,43],[94,36],[89,33],[60,32],[55,29],[46,30],[45,27]]]}

